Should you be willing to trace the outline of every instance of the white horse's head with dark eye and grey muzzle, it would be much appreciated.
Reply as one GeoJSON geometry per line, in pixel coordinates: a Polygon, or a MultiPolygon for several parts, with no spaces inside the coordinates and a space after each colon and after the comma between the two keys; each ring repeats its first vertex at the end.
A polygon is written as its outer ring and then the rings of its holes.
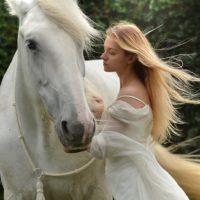
{"type": "Polygon", "coordinates": [[[21,96],[41,102],[64,148],[84,149],[95,122],[84,91],[83,50],[97,31],[75,0],[7,0],[7,4],[19,18],[16,103],[23,104],[21,96]]]}

